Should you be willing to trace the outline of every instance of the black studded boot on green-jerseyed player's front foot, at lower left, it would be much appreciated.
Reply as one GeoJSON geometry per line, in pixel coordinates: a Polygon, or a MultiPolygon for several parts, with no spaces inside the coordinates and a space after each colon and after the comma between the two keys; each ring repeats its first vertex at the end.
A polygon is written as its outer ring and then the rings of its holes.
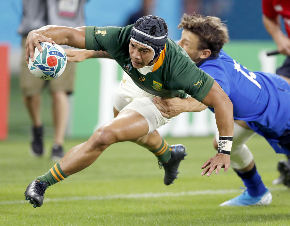
{"type": "Polygon", "coordinates": [[[46,181],[32,181],[24,192],[25,200],[29,200],[33,207],[40,207],[43,203],[43,197],[48,184],[46,181]]]}

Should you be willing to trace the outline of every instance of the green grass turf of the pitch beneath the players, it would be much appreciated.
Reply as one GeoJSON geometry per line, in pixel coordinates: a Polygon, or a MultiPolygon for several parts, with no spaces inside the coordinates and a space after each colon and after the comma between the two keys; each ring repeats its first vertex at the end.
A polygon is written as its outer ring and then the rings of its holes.
{"type": "MultiPolygon", "coordinates": [[[[163,184],[164,170],[159,170],[153,154],[130,142],[118,143],[90,167],[48,188],[43,206],[35,209],[23,193],[53,166],[51,138],[45,140],[48,151],[42,158],[29,154],[28,135],[0,143],[0,225],[289,225],[290,190],[272,185],[283,156],[263,138],[254,136],[248,146],[265,185],[272,189],[273,202],[252,207],[219,206],[239,195],[243,186],[232,169],[200,175],[203,162],[215,154],[211,137],[167,141],[188,148],[173,185],[163,184]]],[[[81,142],[68,139],[65,148],[81,142]]]]}

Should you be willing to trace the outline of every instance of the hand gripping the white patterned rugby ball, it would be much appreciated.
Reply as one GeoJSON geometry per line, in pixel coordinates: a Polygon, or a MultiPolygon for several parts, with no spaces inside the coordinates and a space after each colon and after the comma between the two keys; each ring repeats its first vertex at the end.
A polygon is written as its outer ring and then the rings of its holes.
{"type": "Polygon", "coordinates": [[[40,53],[42,52],[42,47],[39,44],[40,42],[49,42],[55,44],[51,38],[41,34],[39,29],[29,32],[25,44],[25,59],[27,64],[29,63],[29,55],[31,61],[34,61],[34,47],[36,47],[40,53]]]}

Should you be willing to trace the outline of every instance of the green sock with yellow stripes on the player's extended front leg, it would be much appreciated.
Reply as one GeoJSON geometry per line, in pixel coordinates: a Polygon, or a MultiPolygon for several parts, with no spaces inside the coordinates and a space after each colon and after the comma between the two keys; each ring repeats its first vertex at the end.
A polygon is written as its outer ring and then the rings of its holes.
{"type": "Polygon", "coordinates": [[[44,175],[37,177],[36,180],[39,181],[47,181],[48,186],[53,185],[57,182],[60,182],[66,179],[66,174],[63,173],[63,170],[60,168],[60,163],[56,163],[47,173],[44,175]]]}

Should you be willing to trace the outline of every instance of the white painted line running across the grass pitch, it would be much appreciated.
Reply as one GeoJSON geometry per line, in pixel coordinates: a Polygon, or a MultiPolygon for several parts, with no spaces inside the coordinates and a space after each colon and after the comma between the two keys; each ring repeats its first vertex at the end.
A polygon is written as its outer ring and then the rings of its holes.
{"type": "MultiPolygon", "coordinates": [[[[270,191],[283,191],[287,190],[286,187],[269,188],[270,191]]],[[[241,189],[221,189],[221,190],[197,190],[188,192],[164,192],[164,193],[136,193],[136,194],[119,194],[112,196],[71,196],[62,198],[44,199],[44,202],[61,202],[61,201],[74,201],[74,200],[107,200],[107,199],[142,199],[142,198],[158,198],[169,196],[196,196],[196,195],[223,195],[229,193],[240,193],[241,189]]],[[[0,205],[9,204],[22,204],[27,203],[25,200],[0,202],[0,205]]]]}

